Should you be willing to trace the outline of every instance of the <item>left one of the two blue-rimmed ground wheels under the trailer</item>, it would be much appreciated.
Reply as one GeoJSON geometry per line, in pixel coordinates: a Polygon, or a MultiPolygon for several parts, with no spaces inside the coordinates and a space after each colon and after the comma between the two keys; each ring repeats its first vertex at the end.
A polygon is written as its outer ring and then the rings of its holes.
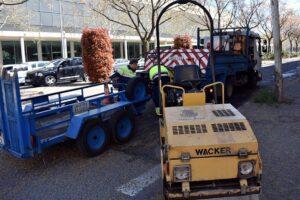
{"type": "Polygon", "coordinates": [[[100,120],[86,122],[77,138],[77,146],[80,151],[87,157],[103,153],[109,144],[108,130],[100,120]]]}

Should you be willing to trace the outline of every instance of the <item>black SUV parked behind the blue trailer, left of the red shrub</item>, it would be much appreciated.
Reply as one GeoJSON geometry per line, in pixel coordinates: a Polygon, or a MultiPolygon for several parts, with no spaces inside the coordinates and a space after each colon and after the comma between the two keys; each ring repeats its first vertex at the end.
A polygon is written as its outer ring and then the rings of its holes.
{"type": "Polygon", "coordinates": [[[54,86],[58,82],[76,82],[87,80],[82,58],[67,58],[54,60],[45,67],[27,73],[26,83],[35,87],[41,85],[54,86]]]}

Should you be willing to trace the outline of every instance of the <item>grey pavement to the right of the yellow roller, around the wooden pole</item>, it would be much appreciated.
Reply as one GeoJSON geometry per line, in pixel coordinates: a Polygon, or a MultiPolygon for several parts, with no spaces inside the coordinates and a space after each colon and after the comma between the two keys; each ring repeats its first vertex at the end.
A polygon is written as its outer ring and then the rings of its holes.
{"type": "Polygon", "coordinates": [[[299,83],[299,77],[284,81],[284,97],[290,103],[262,105],[250,100],[239,108],[259,141],[263,163],[262,200],[299,199],[299,83]]]}

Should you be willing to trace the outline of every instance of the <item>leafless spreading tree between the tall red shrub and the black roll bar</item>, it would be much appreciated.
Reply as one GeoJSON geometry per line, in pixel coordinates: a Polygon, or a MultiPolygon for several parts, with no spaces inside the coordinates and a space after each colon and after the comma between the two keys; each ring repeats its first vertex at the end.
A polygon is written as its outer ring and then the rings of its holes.
{"type": "MultiPolygon", "coordinates": [[[[89,7],[106,20],[135,31],[141,39],[144,56],[146,55],[146,52],[149,51],[149,44],[154,34],[159,11],[169,2],[170,0],[87,1],[89,7]]],[[[161,24],[164,24],[170,19],[171,17],[168,16],[163,18],[161,24]]]]}

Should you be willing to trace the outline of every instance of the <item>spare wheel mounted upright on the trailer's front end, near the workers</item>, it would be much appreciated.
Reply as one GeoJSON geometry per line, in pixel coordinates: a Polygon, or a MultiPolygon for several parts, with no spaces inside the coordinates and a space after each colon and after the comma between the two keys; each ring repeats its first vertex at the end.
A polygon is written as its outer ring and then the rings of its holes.
{"type": "Polygon", "coordinates": [[[140,77],[132,78],[126,87],[126,97],[129,100],[140,100],[147,95],[147,87],[144,80],[140,77]]]}

